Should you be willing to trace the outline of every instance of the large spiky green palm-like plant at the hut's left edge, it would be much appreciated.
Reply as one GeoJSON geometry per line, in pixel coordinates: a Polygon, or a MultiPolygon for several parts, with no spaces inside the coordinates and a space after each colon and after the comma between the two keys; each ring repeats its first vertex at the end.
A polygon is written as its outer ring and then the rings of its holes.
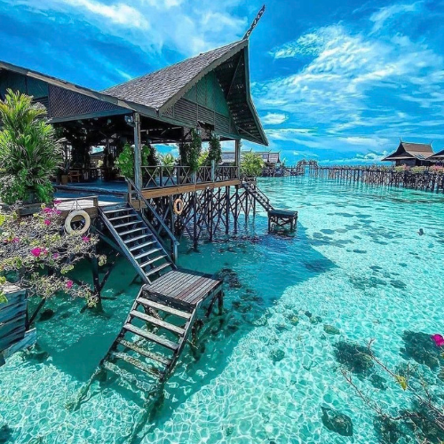
{"type": "Polygon", "coordinates": [[[62,148],[45,113],[20,92],[8,90],[0,101],[0,199],[5,203],[52,198],[50,177],[59,168],[62,148]]]}

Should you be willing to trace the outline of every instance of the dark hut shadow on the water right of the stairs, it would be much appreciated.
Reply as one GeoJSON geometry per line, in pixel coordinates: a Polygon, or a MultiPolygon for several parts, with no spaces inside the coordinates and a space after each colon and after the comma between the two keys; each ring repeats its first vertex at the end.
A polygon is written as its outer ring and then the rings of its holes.
{"type": "MultiPolygon", "coordinates": [[[[266,234],[250,242],[246,252],[235,251],[233,254],[236,262],[225,266],[222,273],[226,275],[224,313],[207,323],[194,353],[190,353],[189,346],[186,348],[169,380],[170,387],[174,388],[170,389],[168,385],[165,388],[165,402],[152,413],[152,423],[149,430],[145,429],[144,437],[149,435],[152,427],[168,421],[180,404],[224,371],[239,341],[251,330],[266,325],[271,315],[269,308],[276,304],[285,289],[335,267],[333,262],[310,246],[305,228],[300,224],[293,239],[266,234]],[[297,250],[296,260],[292,259],[294,255],[290,256],[290,250],[297,250]],[[242,267],[246,265],[249,270],[243,268],[242,273],[242,267]],[[252,269],[257,269],[260,276],[253,276],[252,269]]],[[[273,365],[272,358],[270,365],[273,365]]],[[[140,440],[142,438],[135,442],[140,440]]]]}

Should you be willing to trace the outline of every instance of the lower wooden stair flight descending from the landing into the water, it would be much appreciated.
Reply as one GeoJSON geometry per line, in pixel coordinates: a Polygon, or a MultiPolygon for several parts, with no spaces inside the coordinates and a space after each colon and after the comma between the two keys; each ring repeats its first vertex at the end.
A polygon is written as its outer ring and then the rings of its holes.
{"type": "Polygon", "coordinates": [[[178,310],[155,301],[142,287],[119,336],[100,364],[132,383],[134,369],[162,382],[178,361],[196,310],[196,306],[178,310]]]}

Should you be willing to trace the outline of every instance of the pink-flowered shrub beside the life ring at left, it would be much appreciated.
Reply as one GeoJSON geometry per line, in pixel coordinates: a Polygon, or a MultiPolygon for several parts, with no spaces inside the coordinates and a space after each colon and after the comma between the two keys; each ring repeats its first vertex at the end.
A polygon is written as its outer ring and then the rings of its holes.
{"type": "MultiPolygon", "coordinates": [[[[30,296],[48,298],[64,293],[95,305],[97,297],[91,288],[75,284],[67,273],[82,258],[98,257],[94,252],[97,242],[94,235],[65,234],[56,208],[43,205],[28,218],[19,218],[14,210],[0,211],[0,284],[14,281],[28,289],[30,296]]],[[[106,262],[106,257],[98,258],[100,265],[106,262]]]]}

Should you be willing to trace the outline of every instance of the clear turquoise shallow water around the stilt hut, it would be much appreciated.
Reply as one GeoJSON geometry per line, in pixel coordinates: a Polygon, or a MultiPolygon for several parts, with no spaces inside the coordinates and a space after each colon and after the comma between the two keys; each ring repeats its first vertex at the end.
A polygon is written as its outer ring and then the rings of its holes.
{"type": "MultiPolygon", "coordinates": [[[[444,196],[311,178],[260,182],[275,207],[299,211],[297,235],[266,234],[259,212],[237,236],[198,252],[182,242],[181,266],[225,269],[226,313],[206,326],[198,359],[186,354],[134,442],[382,442],[375,413],[345,381],[337,345],[374,339],[377,357],[396,369],[417,357],[406,331],[444,334],[444,196]],[[349,416],[353,437],[322,424],[321,407],[349,416]]],[[[80,313],[80,301],[45,307],[55,314],[37,322],[38,349],[0,368],[0,442],[129,442],[144,412],[137,391],[96,383],[77,411],[67,404],[118,333],[138,290],[133,277],[125,262],[117,267],[102,315],[80,313]]],[[[383,370],[354,370],[353,383],[381,407],[408,407],[383,370]]],[[[416,371],[440,392],[439,365],[416,371]]]]}

